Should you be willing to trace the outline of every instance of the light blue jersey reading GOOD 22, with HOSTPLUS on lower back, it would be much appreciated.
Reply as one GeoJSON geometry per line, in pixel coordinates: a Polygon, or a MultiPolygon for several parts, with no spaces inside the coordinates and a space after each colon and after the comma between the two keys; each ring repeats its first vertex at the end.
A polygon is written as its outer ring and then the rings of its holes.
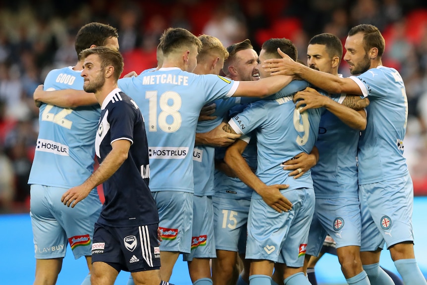
{"type": "MultiPolygon", "coordinates": [[[[46,77],[44,90],[82,90],[80,73],[72,67],[54,69],[46,77]]],[[[43,104],[39,112],[39,137],[28,183],[80,185],[94,170],[99,105],[68,109],[43,104]]]]}

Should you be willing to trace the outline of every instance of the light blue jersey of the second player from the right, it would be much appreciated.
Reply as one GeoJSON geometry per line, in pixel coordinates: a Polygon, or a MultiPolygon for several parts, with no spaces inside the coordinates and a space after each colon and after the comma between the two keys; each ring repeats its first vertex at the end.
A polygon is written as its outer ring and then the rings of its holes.
{"type": "MultiPolygon", "coordinates": [[[[333,97],[342,103],[345,95],[333,97]]],[[[357,145],[360,131],[342,122],[337,116],[325,111],[320,118],[316,147],[319,162],[314,166],[312,177],[316,198],[355,198],[357,189],[357,145]]]]}

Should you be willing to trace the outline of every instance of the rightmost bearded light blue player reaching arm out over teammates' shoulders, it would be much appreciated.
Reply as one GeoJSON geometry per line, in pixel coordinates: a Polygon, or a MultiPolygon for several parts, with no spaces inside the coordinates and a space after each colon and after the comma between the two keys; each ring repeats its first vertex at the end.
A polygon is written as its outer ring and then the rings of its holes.
{"type": "MultiPolygon", "coordinates": [[[[412,231],[413,184],[403,157],[408,103],[399,72],[385,67],[381,57],[384,38],[373,25],[353,27],[346,39],[344,60],[355,76],[339,78],[295,64],[289,57],[266,62],[268,72],[297,74],[331,93],[360,94],[371,101],[368,123],[358,146],[361,201],[366,202],[370,224],[362,222],[361,258],[373,284],[391,284],[379,271],[384,240],[405,284],[425,285],[415,260],[412,231]],[[397,205],[397,206],[396,206],[397,205]]],[[[367,217],[365,216],[365,217],[367,217]]]]}

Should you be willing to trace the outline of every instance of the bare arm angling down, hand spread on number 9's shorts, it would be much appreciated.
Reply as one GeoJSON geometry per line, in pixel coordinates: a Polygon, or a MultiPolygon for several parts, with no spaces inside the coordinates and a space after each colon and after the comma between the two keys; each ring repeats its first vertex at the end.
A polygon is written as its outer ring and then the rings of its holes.
{"type": "Polygon", "coordinates": [[[247,142],[237,139],[227,148],[224,157],[225,163],[236,173],[237,177],[239,177],[243,183],[260,194],[264,202],[275,211],[282,213],[282,211],[287,212],[292,209],[292,203],[279,191],[288,188],[289,185],[275,184],[267,186],[261,181],[242,157],[242,153],[247,145],[247,142]]]}

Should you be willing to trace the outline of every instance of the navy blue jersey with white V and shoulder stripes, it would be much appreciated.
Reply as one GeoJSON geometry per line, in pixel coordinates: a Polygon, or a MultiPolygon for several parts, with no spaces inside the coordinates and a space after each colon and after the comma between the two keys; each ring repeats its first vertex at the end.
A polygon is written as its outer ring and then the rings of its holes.
{"type": "Polygon", "coordinates": [[[150,165],[144,118],[136,105],[120,89],[104,100],[95,140],[102,163],[117,140],[129,140],[128,158],[104,182],[105,204],[99,223],[111,227],[133,227],[159,223],[157,206],[148,187],[150,165]]]}

